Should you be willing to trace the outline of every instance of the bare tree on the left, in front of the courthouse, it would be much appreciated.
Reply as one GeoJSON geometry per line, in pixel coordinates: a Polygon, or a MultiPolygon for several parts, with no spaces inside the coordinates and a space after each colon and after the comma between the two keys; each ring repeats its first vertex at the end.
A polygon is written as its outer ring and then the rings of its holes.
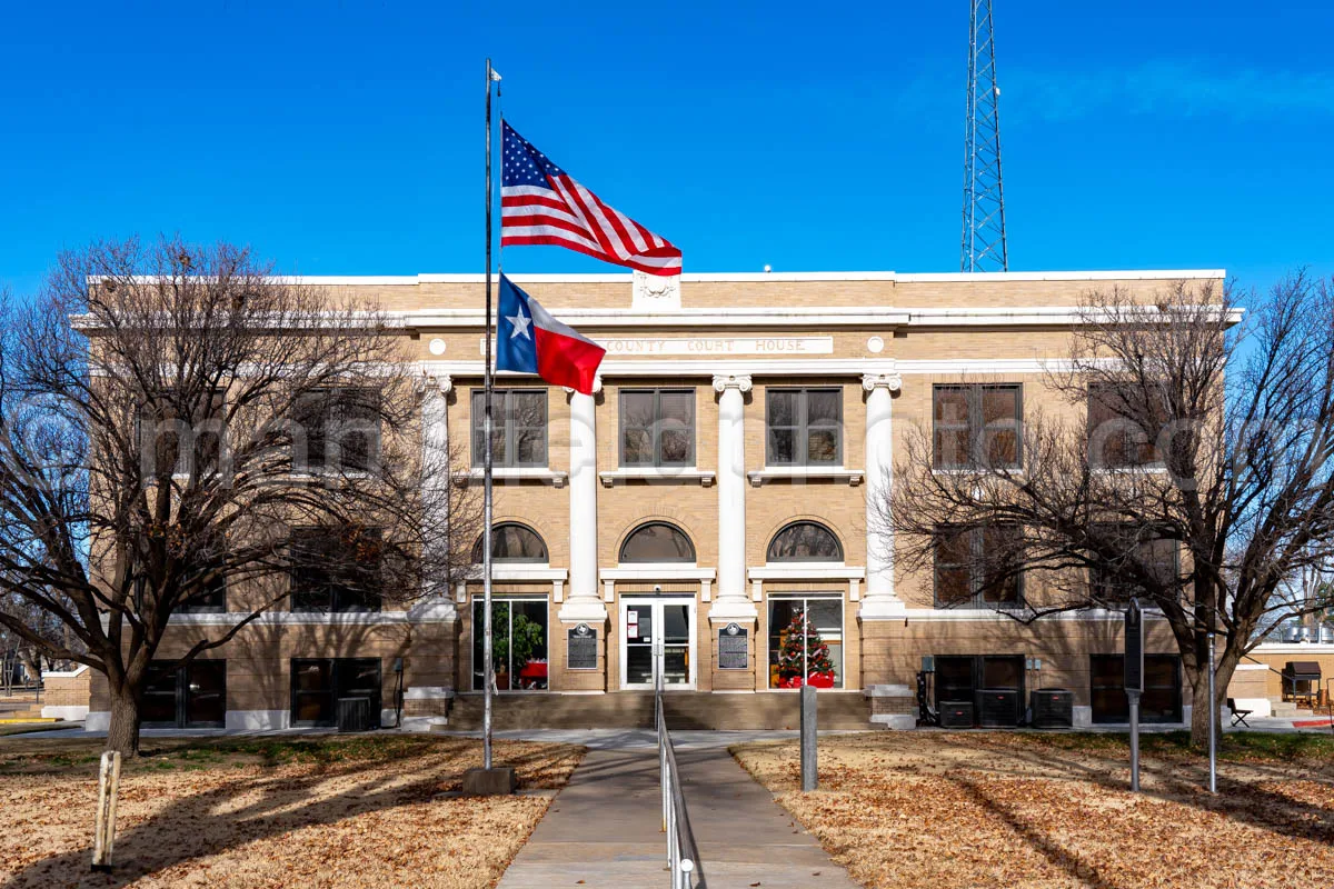
{"type": "Polygon", "coordinates": [[[171,616],[220,584],[240,616],[172,666],[283,601],[301,565],[371,597],[438,593],[466,569],[480,510],[448,460],[423,460],[404,343],[374,305],[176,239],[65,253],[5,307],[0,596],[68,638],[15,609],[0,624],[105,674],[111,749],[137,750],[171,616]]]}

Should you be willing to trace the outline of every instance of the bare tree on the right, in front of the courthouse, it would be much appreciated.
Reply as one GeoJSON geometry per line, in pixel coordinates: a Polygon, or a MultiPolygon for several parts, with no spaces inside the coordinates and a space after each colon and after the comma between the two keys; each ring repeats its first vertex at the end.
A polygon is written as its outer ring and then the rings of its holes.
{"type": "Polygon", "coordinates": [[[1230,287],[1087,295],[1049,409],[984,425],[962,472],[939,472],[947,440],[910,429],[878,508],[910,569],[988,529],[951,557],[983,596],[1023,576],[1017,620],[1146,600],[1181,653],[1197,744],[1210,629],[1221,701],[1261,630],[1313,606],[1289,590],[1334,553],[1334,288],[1295,273],[1246,303],[1241,320],[1230,287]]]}

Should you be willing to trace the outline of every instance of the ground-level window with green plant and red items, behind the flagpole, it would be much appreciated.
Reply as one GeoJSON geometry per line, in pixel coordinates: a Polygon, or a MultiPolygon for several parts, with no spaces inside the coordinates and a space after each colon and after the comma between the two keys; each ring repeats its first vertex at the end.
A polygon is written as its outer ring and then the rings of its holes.
{"type": "MultiPolygon", "coordinates": [[[[483,690],[482,637],[486,605],[472,602],[472,688],[483,690]]],[[[506,597],[491,600],[491,662],[502,692],[540,692],[547,688],[547,600],[506,597]]]]}

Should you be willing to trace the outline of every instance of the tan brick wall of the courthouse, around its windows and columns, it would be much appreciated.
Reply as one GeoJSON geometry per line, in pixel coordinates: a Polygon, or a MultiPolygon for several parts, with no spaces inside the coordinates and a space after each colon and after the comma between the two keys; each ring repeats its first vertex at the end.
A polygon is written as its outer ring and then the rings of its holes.
{"type": "MultiPolygon", "coordinates": [[[[822,602],[822,620],[830,628],[826,636],[836,642],[838,678],[844,689],[912,686],[924,656],[1007,654],[1026,658],[1026,665],[1041,660],[1041,669],[1026,670],[1027,688],[1069,688],[1077,706],[1087,709],[1090,654],[1121,650],[1117,616],[1077,614],[1029,626],[994,613],[938,612],[931,577],[898,570],[890,584],[894,617],[880,612],[874,620],[864,617],[875,610],[867,610],[868,597],[879,597],[882,605],[890,600],[883,584],[874,584],[867,573],[868,546],[875,541],[868,542],[866,498],[883,480],[866,473],[872,396],[863,375],[892,379],[891,454],[902,453],[911,425],[930,425],[936,383],[1022,384],[1025,411],[1069,411],[1047,393],[1043,365],[1067,357],[1081,297],[1119,287],[1149,300],[1179,277],[1214,280],[1221,273],[686,276],[679,307],[664,308],[640,299],[630,276],[518,279],[532,297],[582,333],[620,345],[604,361],[602,391],[594,397],[596,449],[587,457],[595,465],[595,484],[576,480],[575,472],[582,456],[572,448],[578,435],[571,425],[571,401],[584,396],[559,388],[547,388],[547,472],[524,478],[498,473],[496,521],[527,525],[548,553],[543,565],[500,565],[510,573],[498,573],[496,598],[531,602],[514,609],[515,614],[527,609],[524,626],[544,621],[544,676],[535,666],[540,658],[534,656],[524,676],[507,681],[512,686],[546,684],[548,692],[616,692],[631,658],[627,602],[683,598],[694,624],[686,652],[694,688],[768,692],[775,633],[782,629],[770,625],[771,614],[788,614],[796,597],[807,597],[822,602]],[[718,375],[746,380],[746,480],[739,510],[735,502],[723,502],[730,496],[723,493],[728,469],[719,443],[727,420],[720,411],[724,396],[715,388],[718,375]],[[686,472],[640,477],[620,465],[620,393],[652,387],[694,392],[695,465],[686,472]],[[774,389],[794,387],[838,391],[838,472],[792,477],[767,465],[767,397],[774,389]],[[576,481],[583,486],[576,489],[576,481]],[[595,521],[588,526],[572,526],[575,497],[595,500],[595,521]],[[720,541],[727,517],[742,512],[744,574],[738,578],[724,570],[720,541]],[[831,530],[843,558],[834,565],[768,565],[770,541],[796,520],[831,530]],[[683,532],[695,561],[622,565],[619,553],[627,536],[647,521],[668,522],[683,532]],[[591,589],[576,588],[571,578],[575,546],[591,546],[595,553],[598,576],[591,589]],[[606,614],[600,620],[570,617],[595,613],[599,606],[606,614]],[[746,668],[724,669],[719,630],[735,618],[720,622],[711,616],[746,608],[754,617],[736,621],[748,638],[746,668]],[[596,632],[596,664],[571,669],[567,634],[582,622],[596,632]]],[[[482,385],[480,283],[462,276],[311,281],[376,299],[403,313],[422,372],[450,381],[448,435],[452,441],[470,441],[471,454],[471,393],[482,385]]],[[[498,385],[544,388],[539,380],[519,377],[502,377],[498,385]]],[[[467,469],[459,466],[460,473],[467,469]]],[[[281,724],[280,713],[292,700],[291,660],[311,657],[378,658],[386,710],[392,708],[396,690],[392,664],[402,657],[406,716],[426,720],[443,714],[450,694],[474,689],[472,602],[480,593],[480,584],[468,582],[454,590],[450,601],[422,613],[340,616],[325,622],[313,616],[275,614],[247,628],[212,654],[227,660],[228,724],[248,724],[249,717],[241,713],[267,714],[255,720],[281,724]]],[[[1170,652],[1171,642],[1161,630],[1155,628],[1153,646],[1170,652]]],[[[197,632],[183,618],[163,656],[183,650],[197,632]]],[[[99,697],[95,688],[93,698],[93,710],[105,709],[104,689],[99,697]]],[[[898,713],[902,701],[892,700],[896,702],[880,706],[898,713]]]]}

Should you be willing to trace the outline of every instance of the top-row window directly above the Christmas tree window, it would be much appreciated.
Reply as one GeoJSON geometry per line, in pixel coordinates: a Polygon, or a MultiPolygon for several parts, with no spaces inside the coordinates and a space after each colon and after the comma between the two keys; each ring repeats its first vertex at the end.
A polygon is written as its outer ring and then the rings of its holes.
{"type": "Polygon", "coordinates": [[[768,465],[842,465],[842,389],[766,389],[764,403],[768,465]]]}

